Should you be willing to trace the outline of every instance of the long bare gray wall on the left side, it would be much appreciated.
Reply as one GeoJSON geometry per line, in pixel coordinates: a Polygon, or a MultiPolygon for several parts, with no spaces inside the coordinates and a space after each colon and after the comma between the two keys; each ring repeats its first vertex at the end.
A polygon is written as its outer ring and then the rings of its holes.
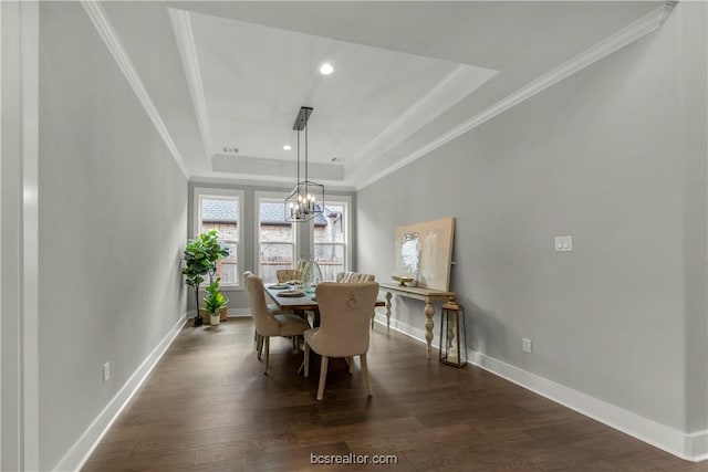
{"type": "Polygon", "coordinates": [[[81,4],[42,2],[40,24],[40,469],[50,470],[185,313],[187,181],[81,4]]]}

